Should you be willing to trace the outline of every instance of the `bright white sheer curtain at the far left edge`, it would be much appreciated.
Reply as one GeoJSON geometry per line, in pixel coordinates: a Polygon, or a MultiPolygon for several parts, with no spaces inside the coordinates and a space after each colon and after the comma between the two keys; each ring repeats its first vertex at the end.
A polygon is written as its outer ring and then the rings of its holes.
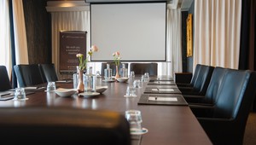
{"type": "Polygon", "coordinates": [[[0,65],[11,73],[11,45],[9,27],[9,0],[0,1],[0,65]]]}

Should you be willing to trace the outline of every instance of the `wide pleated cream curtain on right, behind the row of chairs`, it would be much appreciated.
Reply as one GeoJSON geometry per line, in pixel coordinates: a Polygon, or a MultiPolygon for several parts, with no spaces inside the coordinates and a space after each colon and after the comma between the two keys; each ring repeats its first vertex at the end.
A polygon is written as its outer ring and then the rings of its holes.
{"type": "Polygon", "coordinates": [[[241,0],[195,0],[194,67],[238,68],[241,0]]]}

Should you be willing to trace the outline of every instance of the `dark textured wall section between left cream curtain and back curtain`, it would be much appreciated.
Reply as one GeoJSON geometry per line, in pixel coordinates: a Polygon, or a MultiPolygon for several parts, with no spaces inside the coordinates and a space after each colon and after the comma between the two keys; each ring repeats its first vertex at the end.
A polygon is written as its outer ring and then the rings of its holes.
{"type": "Polygon", "coordinates": [[[23,0],[29,63],[51,63],[50,13],[47,0],[23,0]]]}

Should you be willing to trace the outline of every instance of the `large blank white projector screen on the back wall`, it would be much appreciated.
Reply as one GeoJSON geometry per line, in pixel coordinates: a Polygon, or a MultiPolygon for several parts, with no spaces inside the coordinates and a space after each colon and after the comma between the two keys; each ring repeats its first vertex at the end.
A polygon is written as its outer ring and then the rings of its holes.
{"type": "Polygon", "coordinates": [[[166,61],[166,3],[90,3],[91,61],[166,61]]]}

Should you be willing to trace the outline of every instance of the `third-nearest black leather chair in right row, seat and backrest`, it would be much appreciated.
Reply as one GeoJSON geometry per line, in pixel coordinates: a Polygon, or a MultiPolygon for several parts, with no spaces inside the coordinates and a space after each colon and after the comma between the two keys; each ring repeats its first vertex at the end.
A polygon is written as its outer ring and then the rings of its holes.
{"type": "Polygon", "coordinates": [[[201,65],[201,69],[198,73],[198,77],[195,79],[195,84],[192,87],[181,87],[178,89],[183,95],[202,95],[204,96],[207,92],[208,85],[212,78],[212,72],[214,67],[201,65]]]}

